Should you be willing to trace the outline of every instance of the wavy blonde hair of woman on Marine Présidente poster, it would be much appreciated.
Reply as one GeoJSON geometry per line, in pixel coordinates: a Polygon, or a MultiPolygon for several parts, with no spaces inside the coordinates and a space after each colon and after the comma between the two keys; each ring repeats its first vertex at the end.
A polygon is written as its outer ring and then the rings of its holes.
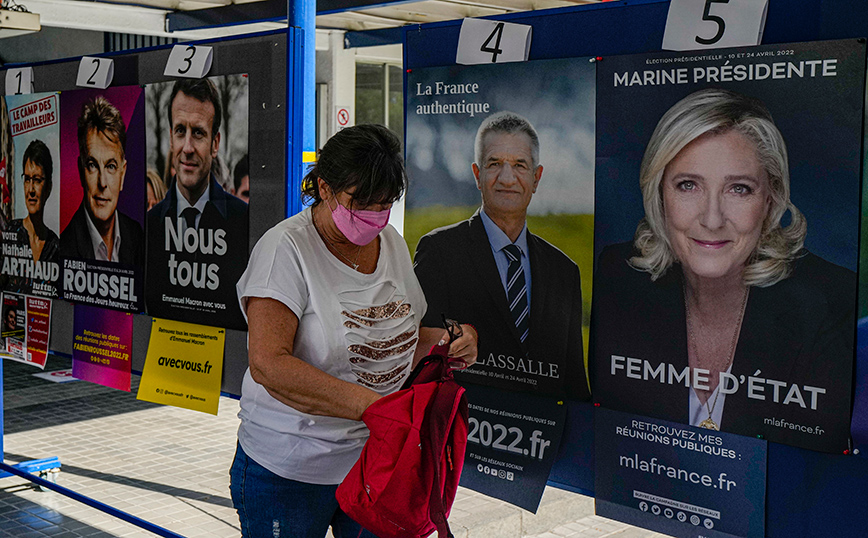
{"type": "Polygon", "coordinates": [[[639,186],[645,218],[639,222],[634,245],[641,253],[630,265],[660,278],[677,261],[666,236],[661,182],[666,166],[678,153],[702,135],[736,131],[756,146],[756,155],[769,177],[771,207],[763,222],[757,246],[747,260],[745,285],[766,287],[787,278],[792,261],[805,243],[807,223],[790,201],[790,171],[784,138],[765,105],[732,91],[705,89],[675,103],[660,118],[645,148],[639,186]],[[790,212],[790,224],[781,226],[790,212]]]}

